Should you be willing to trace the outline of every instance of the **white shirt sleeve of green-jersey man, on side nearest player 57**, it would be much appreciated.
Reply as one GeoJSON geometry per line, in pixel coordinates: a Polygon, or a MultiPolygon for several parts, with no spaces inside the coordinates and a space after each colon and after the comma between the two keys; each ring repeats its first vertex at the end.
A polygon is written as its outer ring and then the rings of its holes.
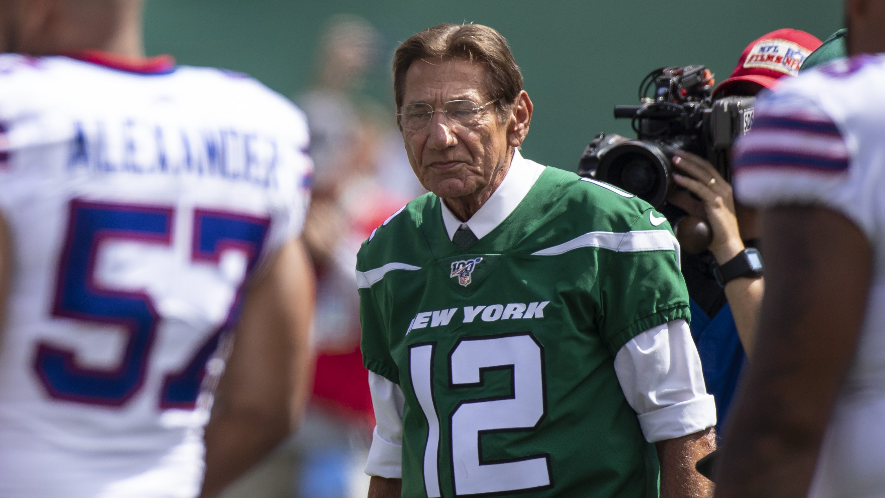
{"type": "Polygon", "coordinates": [[[375,430],[366,462],[366,474],[387,479],[403,477],[403,390],[369,372],[369,390],[375,410],[375,430]]]}

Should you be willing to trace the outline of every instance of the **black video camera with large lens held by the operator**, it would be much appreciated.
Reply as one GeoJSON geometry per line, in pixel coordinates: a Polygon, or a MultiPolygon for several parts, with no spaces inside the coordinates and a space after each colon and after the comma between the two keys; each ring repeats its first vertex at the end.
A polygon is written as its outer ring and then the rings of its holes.
{"type": "Polygon", "coordinates": [[[674,188],[673,151],[705,157],[731,181],[730,149],[753,122],[752,96],[712,101],[713,74],[703,65],[666,67],[639,87],[642,105],[618,105],[614,117],[631,119],[636,139],[598,134],[581,155],[578,174],[638,195],[655,207],[674,188]],[[654,95],[647,96],[651,86],[654,95]]]}

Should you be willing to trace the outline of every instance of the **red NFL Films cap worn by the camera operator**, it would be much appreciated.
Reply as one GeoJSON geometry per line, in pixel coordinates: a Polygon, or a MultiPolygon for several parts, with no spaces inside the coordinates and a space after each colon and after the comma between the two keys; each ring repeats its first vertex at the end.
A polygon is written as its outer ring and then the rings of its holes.
{"type": "Polygon", "coordinates": [[[784,76],[798,76],[805,58],[823,44],[813,34],[798,29],[778,29],[747,45],[737,61],[735,72],[713,91],[733,87],[739,81],[750,81],[772,88],[784,76]]]}

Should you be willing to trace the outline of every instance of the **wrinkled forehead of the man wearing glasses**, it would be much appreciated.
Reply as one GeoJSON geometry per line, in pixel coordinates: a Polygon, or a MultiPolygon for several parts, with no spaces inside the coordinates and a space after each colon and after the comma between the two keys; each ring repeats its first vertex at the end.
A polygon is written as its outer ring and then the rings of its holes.
{"type": "Polygon", "coordinates": [[[489,96],[486,66],[463,57],[418,59],[405,73],[403,104],[441,104],[450,100],[486,103],[489,96]]]}

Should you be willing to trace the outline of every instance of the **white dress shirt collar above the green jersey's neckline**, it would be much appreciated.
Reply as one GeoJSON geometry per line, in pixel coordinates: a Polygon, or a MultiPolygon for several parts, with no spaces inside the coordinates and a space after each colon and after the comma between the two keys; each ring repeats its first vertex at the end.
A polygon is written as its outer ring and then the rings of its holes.
{"type": "MultiPolygon", "coordinates": [[[[489,200],[481,205],[479,211],[473,213],[473,217],[468,219],[463,225],[468,226],[477,239],[488,235],[504,219],[510,216],[510,213],[516,209],[516,206],[522,202],[528,191],[535,185],[535,181],[538,180],[543,171],[543,165],[523,158],[519,154],[519,150],[514,150],[510,170],[504,176],[501,185],[496,188],[495,192],[492,192],[489,200]]],[[[440,204],[443,207],[443,223],[451,240],[462,223],[452,214],[449,206],[445,205],[444,201],[440,204]]]]}

